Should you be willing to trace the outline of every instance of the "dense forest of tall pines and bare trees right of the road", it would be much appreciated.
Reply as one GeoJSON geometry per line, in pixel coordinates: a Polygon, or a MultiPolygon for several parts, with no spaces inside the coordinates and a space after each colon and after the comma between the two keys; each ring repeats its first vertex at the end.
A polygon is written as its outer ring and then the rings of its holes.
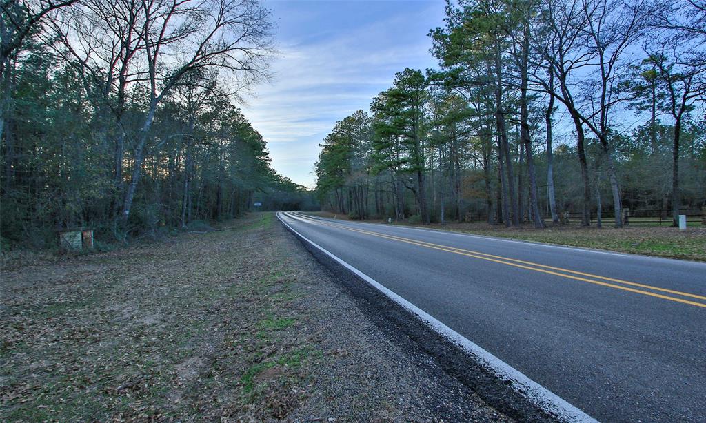
{"type": "Polygon", "coordinates": [[[706,3],[448,1],[438,69],[339,121],[323,207],[356,219],[623,226],[706,198],[706,3]]]}

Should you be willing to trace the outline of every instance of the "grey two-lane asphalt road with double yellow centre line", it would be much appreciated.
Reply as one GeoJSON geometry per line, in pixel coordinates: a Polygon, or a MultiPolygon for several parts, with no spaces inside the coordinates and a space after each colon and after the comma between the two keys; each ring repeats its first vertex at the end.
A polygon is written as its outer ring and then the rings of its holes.
{"type": "Polygon", "coordinates": [[[282,214],[605,422],[706,422],[706,264],[282,214]]]}

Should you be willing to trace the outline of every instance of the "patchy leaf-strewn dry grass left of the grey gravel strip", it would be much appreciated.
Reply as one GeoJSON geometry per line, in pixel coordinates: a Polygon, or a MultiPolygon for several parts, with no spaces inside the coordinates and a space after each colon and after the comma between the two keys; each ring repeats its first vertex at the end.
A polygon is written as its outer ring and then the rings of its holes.
{"type": "Polygon", "coordinates": [[[279,419],[306,398],[297,262],[273,216],[2,276],[2,421],[279,419]],[[281,233],[279,233],[281,235],[281,233]]]}

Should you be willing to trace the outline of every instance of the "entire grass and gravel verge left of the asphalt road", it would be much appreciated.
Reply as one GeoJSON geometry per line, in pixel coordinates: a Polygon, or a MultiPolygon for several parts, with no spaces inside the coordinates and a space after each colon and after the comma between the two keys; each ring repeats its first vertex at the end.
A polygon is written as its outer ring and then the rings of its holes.
{"type": "Polygon", "coordinates": [[[273,214],[0,276],[2,421],[509,421],[273,214]]]}

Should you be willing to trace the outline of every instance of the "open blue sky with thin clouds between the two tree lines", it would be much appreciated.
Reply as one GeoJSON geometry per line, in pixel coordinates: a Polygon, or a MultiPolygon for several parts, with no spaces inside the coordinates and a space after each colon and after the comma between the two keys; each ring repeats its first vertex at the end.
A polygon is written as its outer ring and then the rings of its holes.
{"type": "Polygon", "coordinates": [[[314,188],[314,162],[337,121],[392,85],[404,68],[436,66],[429,30],[442,0],[266,1],[277,25],[273,82],[241,109],[268,142],[275,170],[314,188]]]}

